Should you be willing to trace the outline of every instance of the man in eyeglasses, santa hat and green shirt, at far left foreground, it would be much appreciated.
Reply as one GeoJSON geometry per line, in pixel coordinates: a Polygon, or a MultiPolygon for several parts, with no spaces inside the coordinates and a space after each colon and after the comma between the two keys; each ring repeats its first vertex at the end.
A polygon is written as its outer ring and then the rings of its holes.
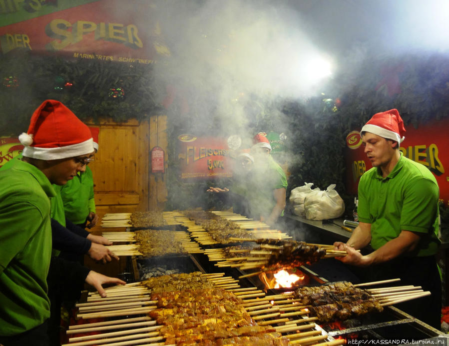
{"type": "MultiPolygon", "coordinates": [[[[88,127],[55,100],[34,111],[19,140],[23,158],[0,170],[0,343],[40,346],[49,343],[51,184],[72,179],[93,145],[88,127]]],[[[103,295],[103,283],[125,283],[94,271],[84,275],[103,295]]]]}

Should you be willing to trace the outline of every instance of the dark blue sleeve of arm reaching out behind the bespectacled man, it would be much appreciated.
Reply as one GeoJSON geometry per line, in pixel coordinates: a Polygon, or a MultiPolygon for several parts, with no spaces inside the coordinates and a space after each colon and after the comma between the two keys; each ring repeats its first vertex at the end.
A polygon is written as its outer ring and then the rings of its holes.
{"type": "Polygon", "coordinates": [[[69,231],[58,221],[51,219],[53,248],[75,254],[85,254],[92,244],[89,239],[69,231]]]}

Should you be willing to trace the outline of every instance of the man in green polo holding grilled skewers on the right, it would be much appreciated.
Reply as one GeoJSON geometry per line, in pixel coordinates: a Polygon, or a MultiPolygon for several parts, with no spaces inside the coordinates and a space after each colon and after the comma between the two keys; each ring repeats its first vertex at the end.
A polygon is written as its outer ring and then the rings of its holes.
{"type": "Polygon", "coordinates": [[[423,164],[404,157],[399,143],[404,124],[397,109],[377,113],[362,127],[365,153],[373,168],[359,182],[359,226],[346,244],[340,259],[367,267],[365,281],[401,278],[431,291],[431,296],[398,304],[397,307],[440,328],[441,279],[436,262],[440,240],[439,187],[423,164]],[[357,252],[371,244],[367,255],[357,252]]]}

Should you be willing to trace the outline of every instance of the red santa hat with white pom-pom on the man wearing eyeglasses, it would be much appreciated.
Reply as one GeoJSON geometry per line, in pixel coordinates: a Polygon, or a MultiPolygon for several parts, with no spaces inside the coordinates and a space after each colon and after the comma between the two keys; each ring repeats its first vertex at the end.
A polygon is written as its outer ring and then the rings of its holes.
{"type": "Polygon", "coordinates": [[[61,102],[47,99],[31,115],[27,133],[18,136],[23,156],[42,160],[85,155],[93,151],[89,127],[61,102]]]}

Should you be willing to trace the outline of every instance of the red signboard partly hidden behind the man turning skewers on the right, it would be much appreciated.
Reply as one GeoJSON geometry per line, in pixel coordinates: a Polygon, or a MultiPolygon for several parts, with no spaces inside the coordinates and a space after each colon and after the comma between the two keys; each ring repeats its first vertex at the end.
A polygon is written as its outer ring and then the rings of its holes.
{"type": "MultiPolygon", "coordinates": [[[[440,199],[449,206],[449,119],[433,120],[418,128],[409,125],[406,129],[406,138],[400,150],[406,157],[424,164],[434,173],[440,186],[440,199]]],[[[350,194],[357,194],[360,176],[372,167],[364,153],[359,131],[356,129],[348,133],[346,138],[346,187],[350,194]]]]}

